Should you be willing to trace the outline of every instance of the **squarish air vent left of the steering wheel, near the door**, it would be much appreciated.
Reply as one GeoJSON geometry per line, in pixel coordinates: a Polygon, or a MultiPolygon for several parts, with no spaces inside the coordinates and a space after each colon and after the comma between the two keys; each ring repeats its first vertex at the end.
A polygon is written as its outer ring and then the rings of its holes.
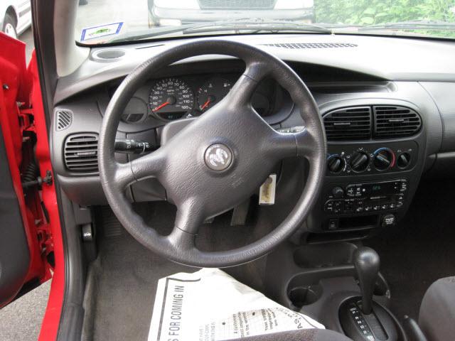
{"type": "Polygon", "coordinates": [[[68,171],[90,173],[98,171],[98,134],[73,134],[64,146],[65,166],[68,171]]]}

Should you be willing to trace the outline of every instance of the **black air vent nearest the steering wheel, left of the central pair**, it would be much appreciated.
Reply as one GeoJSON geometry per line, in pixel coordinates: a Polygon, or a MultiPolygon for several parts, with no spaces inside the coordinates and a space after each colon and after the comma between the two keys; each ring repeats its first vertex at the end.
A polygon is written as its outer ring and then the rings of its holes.
{"type": "Polygon", "coordinates": [[[323,117],[328,141],[370,139],[371,108],[350,107],[336,109],[323,117]]]}

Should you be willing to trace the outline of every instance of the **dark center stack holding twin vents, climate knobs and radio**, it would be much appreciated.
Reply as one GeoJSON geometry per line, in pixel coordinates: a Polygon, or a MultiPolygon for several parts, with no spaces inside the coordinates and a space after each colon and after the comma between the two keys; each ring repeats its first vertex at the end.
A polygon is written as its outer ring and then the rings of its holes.
{"type": "Polygon", "coordinates": [[[316,209],[306,222],[309,242],[361,239],[381,227],[393,227],[405,215],[422,174],[424,130],[406,133],[409,115],[419,117],[417,112],[377,108],[323,115],[326,176],[316,209]],[[386,136],[378,133],[384,112],[389,114],[386,136]],[[370,130],[360,136],[364,126],[370,130]]]}

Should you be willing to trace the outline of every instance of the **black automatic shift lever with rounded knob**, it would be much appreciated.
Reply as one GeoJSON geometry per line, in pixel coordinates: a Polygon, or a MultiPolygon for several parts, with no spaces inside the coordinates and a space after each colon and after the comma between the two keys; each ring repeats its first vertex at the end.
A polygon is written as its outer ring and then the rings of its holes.
{"type": "Polygon", "coordinates": [[[362,293],[362,313],[369,315],[373,310],[373,290],[379,272],[379,255],[370,247],[359,247],[353,254],[353,264],[362,293]]]}

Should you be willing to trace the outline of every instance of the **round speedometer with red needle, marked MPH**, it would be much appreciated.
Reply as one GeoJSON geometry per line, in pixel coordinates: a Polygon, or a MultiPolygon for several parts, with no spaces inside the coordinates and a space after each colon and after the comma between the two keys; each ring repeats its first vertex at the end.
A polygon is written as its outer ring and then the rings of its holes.
{"type": "Polygon", "coordinates": [[[151,112],[161,119],[181,119],[193,110],[193,92],[183,80],[164,78],[151,88],[149,104],[151,112]]]}

